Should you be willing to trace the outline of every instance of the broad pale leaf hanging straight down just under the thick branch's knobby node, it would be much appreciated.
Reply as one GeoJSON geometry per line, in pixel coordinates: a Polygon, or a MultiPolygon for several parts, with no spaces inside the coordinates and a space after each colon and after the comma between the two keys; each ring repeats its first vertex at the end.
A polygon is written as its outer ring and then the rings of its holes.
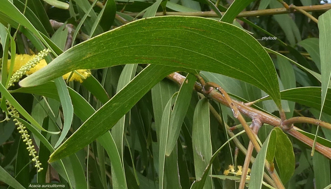
{"type": "MultiPolygon", "coordinates": [[[[195,177],[202,178],[212,158],[212,142],[210,136],[209,102],[207,98],[201,99],[194,111],[192,144],[194,155],[195,177]]],[[[210,170],[208,174],[211,174],[210,170]]],[[[213,188],[212,178],[207,178],[205,189],[213,188]]]]}

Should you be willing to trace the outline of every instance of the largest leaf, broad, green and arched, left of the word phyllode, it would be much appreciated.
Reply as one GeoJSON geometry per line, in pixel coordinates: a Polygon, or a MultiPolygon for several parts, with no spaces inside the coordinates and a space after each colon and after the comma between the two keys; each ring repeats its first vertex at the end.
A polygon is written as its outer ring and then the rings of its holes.
{"type": "Polygon", "coordinates": [[[40,85],[78,68],[98,69],[127,63],[163,64],[181,71],[204,70],[234,77],[259,87],[281,107],[276,71],[260,43],[231,24],[199,17],[166,16],[131,22],[67,50],[20,85],[40,85]],[[113,56],[101,53],[96,47],[99,45],[105,47],[104,51],[111,50],[113,56]]]}

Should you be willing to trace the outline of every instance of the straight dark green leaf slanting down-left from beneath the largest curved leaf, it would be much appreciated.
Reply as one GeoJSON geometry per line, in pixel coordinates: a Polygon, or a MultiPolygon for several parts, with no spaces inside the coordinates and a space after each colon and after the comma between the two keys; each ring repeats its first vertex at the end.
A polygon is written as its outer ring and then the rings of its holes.
{"type": "Polygon", "coordinates": [[[146,67],[51,154],[49,162],[78,151],[111,129],[143,95],[173,71],[174,68],[169,66],[149,65],[146,67]]]}

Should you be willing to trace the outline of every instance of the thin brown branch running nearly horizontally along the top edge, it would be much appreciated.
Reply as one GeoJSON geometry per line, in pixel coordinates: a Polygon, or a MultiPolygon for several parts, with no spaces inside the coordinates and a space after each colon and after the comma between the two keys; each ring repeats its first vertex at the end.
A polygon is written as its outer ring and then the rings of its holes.
{"type": "MultiPolygon", "coordinates": [[[[302,6],[297,7],[306,12],[315,12],[315,11],[328,11],[331,9],[331,4],[323,5],[312,5],[312,6],[302,6]]],[[[276,8],[276,9],[265,9],[265,10],[256,10],[256,11],[243,11],[237,15],[237,18],[240,17],[252,17],[252,16],[264,16],[264,15],[278,15],[278,14],[288,14],[289,11],[295,13],[296,10],[286,8],[276,8]]],[[[222,12],[224,14],[225,12],[222,12]]],[[[139,13],[125,13],[131,17],[136,17],[139,13]]],[[[218,18],[214,11],[205,11],[205,12],[166,12],[167,16],[198,16],[198,17],[213,17],[218,18]]],[[[144,14],[139,15],[139,17],[144,16],[144,14]]],[[[164,16],[163,12],[157,12],[155,16],[164,16]]]]}

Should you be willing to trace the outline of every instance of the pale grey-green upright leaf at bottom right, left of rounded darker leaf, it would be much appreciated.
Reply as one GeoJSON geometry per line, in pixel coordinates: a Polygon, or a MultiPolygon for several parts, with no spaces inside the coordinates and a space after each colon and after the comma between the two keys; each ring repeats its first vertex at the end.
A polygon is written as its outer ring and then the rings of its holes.
{"type": "Polygon", "coordinates": [[[269,142],[270,140],[275,141],[276,137],[277,137],[276,130],[274,129],[271,130],[268,137],[265,139],[260,152],[256,156],[256,159],[252,165],[251,180],[248,187],[249,189],[261,188],[263,181],[263,173],[264,173],[264,161],[266,158],[267,150],[269,148],[269,142]]]}

